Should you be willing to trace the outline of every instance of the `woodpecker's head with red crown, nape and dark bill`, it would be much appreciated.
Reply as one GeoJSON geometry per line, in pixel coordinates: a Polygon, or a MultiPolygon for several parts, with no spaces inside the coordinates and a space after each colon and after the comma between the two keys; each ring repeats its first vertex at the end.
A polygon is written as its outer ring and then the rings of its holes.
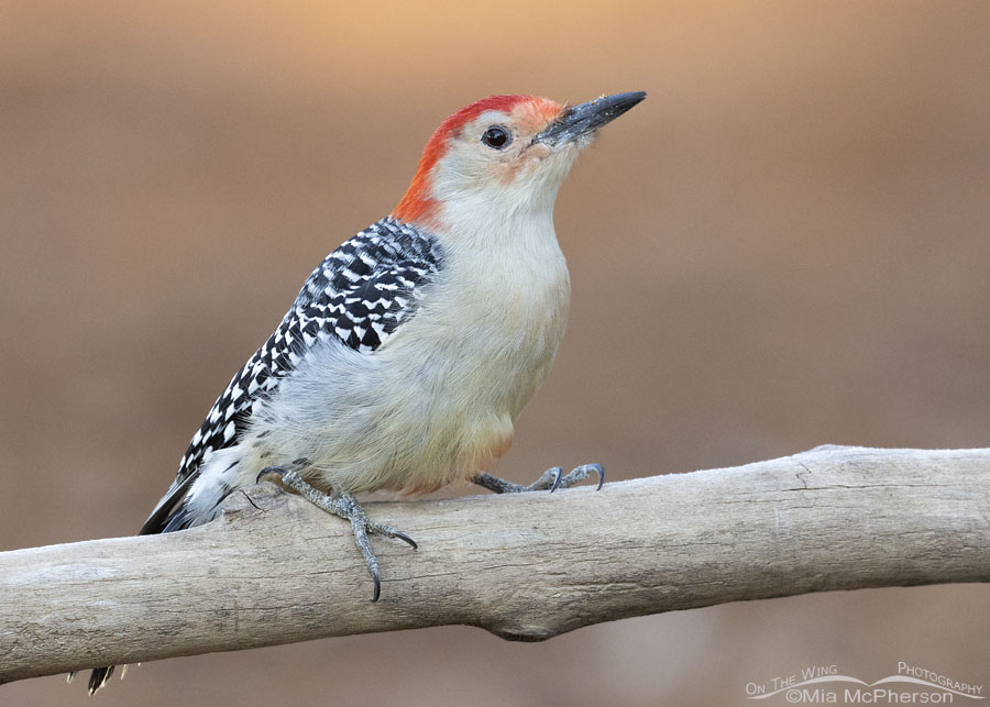
{"type": "Polygon", "coordinates": [[[568,107],[534,96],[492,96],[462,108],[430,137],[393,216],[437,227],[459,210],[482,209],[496,219],[549,211],[597,129],[644,98],[636,91],[568,107]]]}

